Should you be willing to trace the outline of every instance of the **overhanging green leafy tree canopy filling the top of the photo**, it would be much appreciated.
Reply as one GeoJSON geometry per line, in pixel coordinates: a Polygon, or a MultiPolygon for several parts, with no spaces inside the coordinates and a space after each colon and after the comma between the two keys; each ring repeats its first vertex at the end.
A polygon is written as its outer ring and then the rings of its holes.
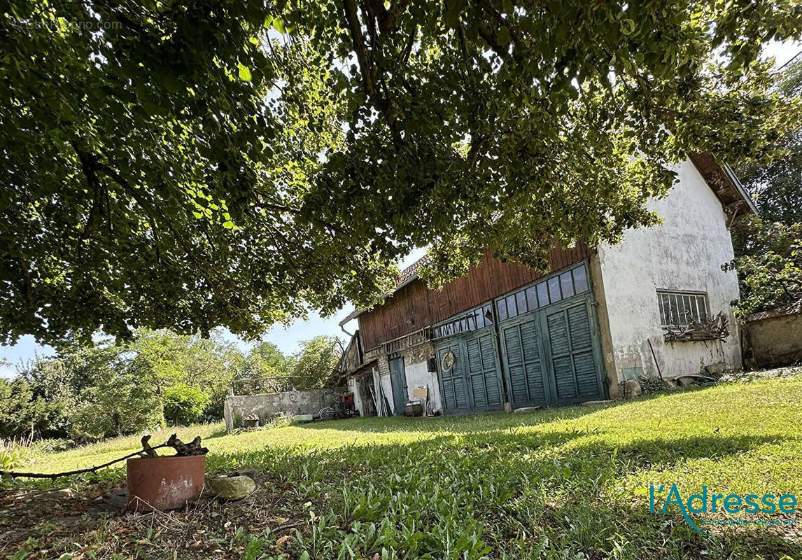
{"type": "Polygon", "coordinates": [[[688,151],[768,157],[793,2],[21,2],[0,19],[0,335],[258,335],[615,241],[688,151]]]}

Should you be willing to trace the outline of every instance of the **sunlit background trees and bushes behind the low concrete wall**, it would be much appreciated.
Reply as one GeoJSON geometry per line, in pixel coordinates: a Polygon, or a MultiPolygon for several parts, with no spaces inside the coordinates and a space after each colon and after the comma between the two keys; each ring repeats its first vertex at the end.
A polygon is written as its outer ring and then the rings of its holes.
{"type": "Polygon", "coordinates": [[[129,343],[99,339],[55,358],[18,367],[0,380],[0,436],[93,440],[164,424],[217,421],[230,388],[239,394],[321,388],[330,383],[342,343],[318,336],[295,355],[273,343],[247,353],[219,335],[137,331],[129,343]]]}

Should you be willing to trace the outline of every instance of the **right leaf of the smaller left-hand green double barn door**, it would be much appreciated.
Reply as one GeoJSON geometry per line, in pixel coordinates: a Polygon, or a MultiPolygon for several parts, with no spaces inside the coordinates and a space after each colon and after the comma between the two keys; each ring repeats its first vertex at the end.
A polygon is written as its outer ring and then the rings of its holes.
{"type": "Polygon", "coordinates": [[[475,412],[500,410],[504,407],[504,400],[501,396],[501,375],[493,330],[483,329],[476,335],[465,337],[464,344],[468,358],[470,408],[475,412]]]}

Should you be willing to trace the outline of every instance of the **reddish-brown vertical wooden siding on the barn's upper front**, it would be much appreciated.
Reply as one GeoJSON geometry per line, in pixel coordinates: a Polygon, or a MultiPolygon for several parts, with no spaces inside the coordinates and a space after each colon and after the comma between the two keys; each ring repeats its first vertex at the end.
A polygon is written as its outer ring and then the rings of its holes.
{"type": "MultiPolygon", "coordinates": [[[[549,269],[554,272],[586,258],[584,243],[573,249],[554,248],[549,252],[549,269]]],[[[383,305],[359,315],[359,335],[365,351],[399,336],[448,319],[508,291],[541,278],[543,274],[515,262],[501,262],[488,251],[480,266],[462,278],[444,286],[443,290],[427,290],[421,280],[387,298],[383,305]]]]}

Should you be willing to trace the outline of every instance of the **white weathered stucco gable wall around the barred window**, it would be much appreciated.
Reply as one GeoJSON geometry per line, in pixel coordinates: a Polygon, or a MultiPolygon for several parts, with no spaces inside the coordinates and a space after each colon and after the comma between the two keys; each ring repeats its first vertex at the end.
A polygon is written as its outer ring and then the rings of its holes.
{"type": "MultiPolygon", "coordinates": [[[[669,195],[649,205],[664,219],[662,225],[627,231],[622,243],[598,247],[612,347],[606,348],[607,354],[612,353],[606,355],[606,364],[614,363],[618,381],[629,367],[658,375],[647,340],[663,377],[698,373],[703,364],[722,361],[727,367],[741,366],[738,327],[730,306],[738,297],[738,279],[734,272],[721,270],[732,258],[726,217],[690,160],[677,171],[679,181],[669,195]],[[663,342],[658,289],[706,292],[711,314],[724,310],[728,315],[727,341],[663,342]]],[[[615,380],[610,381],[614,385],[615,380]]]]}

